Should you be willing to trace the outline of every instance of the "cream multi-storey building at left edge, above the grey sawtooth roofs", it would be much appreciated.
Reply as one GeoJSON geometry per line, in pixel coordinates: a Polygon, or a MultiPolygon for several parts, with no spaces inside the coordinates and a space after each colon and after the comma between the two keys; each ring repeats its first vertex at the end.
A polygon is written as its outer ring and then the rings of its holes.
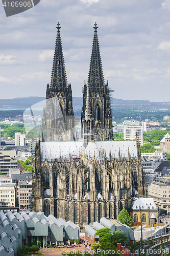
{"type": "Polygon", "coordinates": [[[15,206],[15,184],[0,184],[0,203],[6,206],[15,206]]]}

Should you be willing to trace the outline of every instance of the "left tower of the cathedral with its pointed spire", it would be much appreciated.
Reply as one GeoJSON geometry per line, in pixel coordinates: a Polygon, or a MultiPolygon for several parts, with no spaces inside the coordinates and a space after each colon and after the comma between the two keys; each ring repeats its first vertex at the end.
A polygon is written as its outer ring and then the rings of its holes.
{"type": "Polygon", "coordinates": [[[72,90],[71,84],[67,85],[60,28],[58,23],[51,85],[47,84],[46,87],[46,108],[44,108],[42,119],[44,141],[74,139],[72,90]]]}

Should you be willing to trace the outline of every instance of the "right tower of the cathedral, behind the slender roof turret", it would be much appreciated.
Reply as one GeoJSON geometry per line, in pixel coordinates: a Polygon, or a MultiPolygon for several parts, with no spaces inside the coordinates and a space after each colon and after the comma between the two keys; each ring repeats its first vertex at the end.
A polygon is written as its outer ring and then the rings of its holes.
{"type": "MultiPolygon", "coordinates": [[[[94,36],[91,51],[90,69],[88,76],[89,96],[91,117],[94,120],[94,138],[95,140],[112,139],[112,113],[110,108],[110,96],[108,83],[105,84],[102,60],[100,54],[99,40],[97,34],[97,24],[94,24],[94,36]]],[[[82,135],[83,120],[86,116],[87,84],[83,89],[83,108],[82,108],[82,135]]],[[[84,137],[84,135],[83,135],[84,137]]],[[[84,137],[86,140],[86,136],[84,137]]]]}

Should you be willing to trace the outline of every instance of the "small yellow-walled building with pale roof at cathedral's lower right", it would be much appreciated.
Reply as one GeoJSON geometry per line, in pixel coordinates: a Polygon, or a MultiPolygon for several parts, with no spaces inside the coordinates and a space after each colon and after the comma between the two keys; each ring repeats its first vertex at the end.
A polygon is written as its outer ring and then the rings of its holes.
{"type": "Polygon", "coordinates": [[[132,206],[132,225],[150,225],[159,223],[159,209],[153,198],[138,198],[132,206]]]}

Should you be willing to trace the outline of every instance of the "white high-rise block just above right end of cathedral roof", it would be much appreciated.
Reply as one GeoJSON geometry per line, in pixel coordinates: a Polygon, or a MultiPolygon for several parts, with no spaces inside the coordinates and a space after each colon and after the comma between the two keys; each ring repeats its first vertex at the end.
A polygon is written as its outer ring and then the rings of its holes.
{"type": "Polygon", "coordinates": [[[138,135],[138,140],[140,145],[143,145],[143,129],[140,125],[134,126],[124,126],[124,140],[135,140],[136,133],[138,135]]]}

